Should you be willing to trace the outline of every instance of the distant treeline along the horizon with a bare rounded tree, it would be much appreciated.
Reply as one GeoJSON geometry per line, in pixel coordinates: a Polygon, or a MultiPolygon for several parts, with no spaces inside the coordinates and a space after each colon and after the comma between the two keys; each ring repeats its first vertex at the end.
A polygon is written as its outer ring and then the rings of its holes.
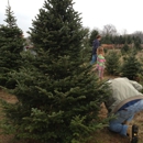
{"type": "Polygon", "coordinates": [[[103,30],[89,30],[89,44],[92,45],[92,41],[95,40],[97,34],[102,35],[101,44],[142,44],[143,43],[143,32],[136,31],[132,34],[128,34],[125,31],[123,34],[119,34],[116,28],[111,24],[105,25],[103,30]]]}

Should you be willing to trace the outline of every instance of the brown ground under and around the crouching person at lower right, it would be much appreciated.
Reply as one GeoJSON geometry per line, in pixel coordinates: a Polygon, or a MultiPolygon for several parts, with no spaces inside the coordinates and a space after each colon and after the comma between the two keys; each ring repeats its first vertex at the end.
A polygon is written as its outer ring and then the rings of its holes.
{"type": "MultiPolygon", "coordinates": [[[[107,109],[105,105],[101,106],[100,114],[102,118],[107,117],[107,109]]],[[[135,114],[130,124],[138,124],[139,128],[139,143],[143,143],[143,112],[135,114]]],[[[89,143],[130,143],[129,138],[123,138],[117,133],[110,132],[107,128],[92,134],[94,139],[89,143]]]]}

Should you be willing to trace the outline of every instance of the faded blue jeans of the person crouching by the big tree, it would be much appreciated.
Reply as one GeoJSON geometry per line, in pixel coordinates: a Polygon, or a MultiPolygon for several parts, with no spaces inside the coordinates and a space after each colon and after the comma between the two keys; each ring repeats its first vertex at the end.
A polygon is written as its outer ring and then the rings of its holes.
{"type": "Polygon", "coordinates": [[[121,135],[127,135],[128,125],[122,124],[124,121],[131,121],[135,113],[143,110],[143,99],[139,100],[134,105],[120,110],[116,113],[117,119],[109,122],[109,130],[120,133],[121,135]]]}

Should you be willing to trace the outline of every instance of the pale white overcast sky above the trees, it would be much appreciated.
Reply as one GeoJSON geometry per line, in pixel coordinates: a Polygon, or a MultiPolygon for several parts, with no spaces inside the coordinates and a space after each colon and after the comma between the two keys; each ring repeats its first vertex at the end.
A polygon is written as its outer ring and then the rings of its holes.
{"type": "MultiPolygon", "coordinates": [[[[32,20],[38,14],[44,0],[9,0],[16,23],[26,36],[32,20]]],[[[112,24],[119,33],[143,31],[143,0],[74,0],[74,9],[81,13],[82,25],[102,30],[112,24]]],[[[0,24],[6,19],[7,0],[0,0],[0,24]]]]}

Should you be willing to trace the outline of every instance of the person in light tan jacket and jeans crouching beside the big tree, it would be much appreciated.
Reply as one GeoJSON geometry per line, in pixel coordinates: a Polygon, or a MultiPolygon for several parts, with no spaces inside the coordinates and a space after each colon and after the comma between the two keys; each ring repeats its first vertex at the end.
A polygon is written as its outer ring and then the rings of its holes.
{"type": "Polygon", "coordinates": [[[143,110],[142,85],[128,78],[110,79],[112,96],[105,102],[109,113],[116,114],[110,120],[109,130],[129,136],[131,143],[138,143],[138,125],[129,125],[135,113],[143,110]]]}

